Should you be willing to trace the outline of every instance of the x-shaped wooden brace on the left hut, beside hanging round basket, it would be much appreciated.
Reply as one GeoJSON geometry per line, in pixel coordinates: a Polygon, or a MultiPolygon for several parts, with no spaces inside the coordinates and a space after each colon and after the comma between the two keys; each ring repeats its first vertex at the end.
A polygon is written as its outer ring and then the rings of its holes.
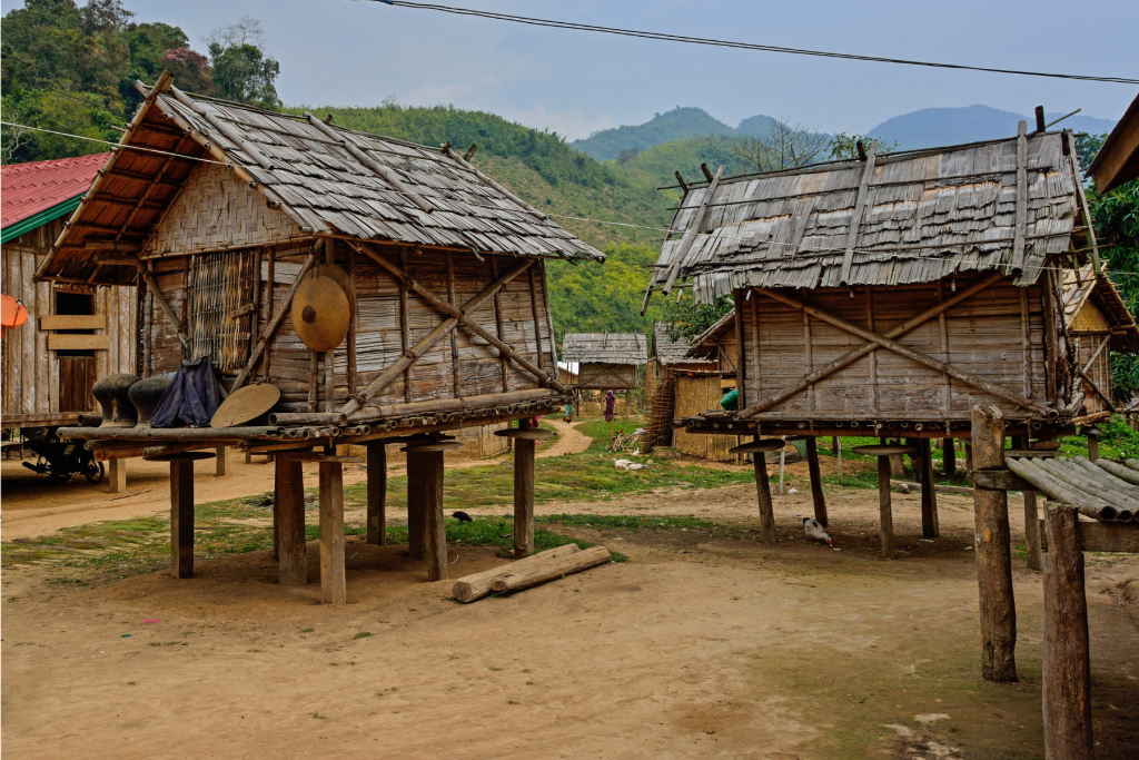
{"type": "Polygon", "coordinates": [[[549,374],[543,371],[540,367],[536,367],[525,357],[518,356],[518,353],[516,353],[514,349],[511,349],[509,345],[500,341],[498,336],[492,335],[489,330],[483,328],[482,325],[470,321],[467,318],[467,314],[469,312],[477,310],[489,299],[492,299],[495,293],[501,291],[507,285],[507,283],[509,283],[518,275],[526,271],[526,269],[533,263],[532,259],[525,259],[521,261],[518,265],[514,267],[513,269],[503,273],[497,280],[494,280],[485,288],[483,288],[475,297],[462,304],[462,308],[457,308],[452,305],[449,301],[445,301],[435,295],[431,291],[431,288],[425,286],[415,277],[407,273],[392,262],[384,259],[384,256],[376,253],[371,248],[371,246],[368,246],[367,244],[357,245],[355,243],[351,242],[350,245],[360,253],[364,254],[366,256],[375,261],[383,269],[387,270],[387,272],[391,273],[392,277],[395,277],[398,280],[404,283],[409,288],[418,293],[425,301],[427,301],[427,303],[432,304],[440,311],[443,311],[446,314],[449,314],[450,318],[445,319],[441,325],[439,325],[435,329],[428,333],[426,337],[419,341],[419,343],[417,343],[413,348],[409,349],[402,357],[399,358],[399,360],[395,363],[393,363],[391,367],[380,373],[376,379],[368,383],[367,387],[364,387],[359,395],[349,399],[347,403],[345,403],[339,409],[339,411],[351,415],[353,411],[360,409],[360,407],[362,407],[364,402],[378,395],[380,391],[383,391],[396,377],[403,374],[404,369],[407,369],[416,361],[418,361],[419,357],[427,353],[427,351],[429,351],[431,348],[435,345],[435,343],[439,342],[440,338],[442,338],[444,335],[450,334],[450,332],[453,330],[459,325],[462,325],[466,329],[470,330],[478,337],[483,338],[484,341],[493,345],[495,349],[498,349],[499,353],[502,354],[505,358],[509,359],[510,361],[517,362],[519,367],[522,367],[531,375],[536,377],[539,382],[541,382],[543,385],[552,387],[559,393],[567,392],[565,385],[554,379],[549,374]]]}

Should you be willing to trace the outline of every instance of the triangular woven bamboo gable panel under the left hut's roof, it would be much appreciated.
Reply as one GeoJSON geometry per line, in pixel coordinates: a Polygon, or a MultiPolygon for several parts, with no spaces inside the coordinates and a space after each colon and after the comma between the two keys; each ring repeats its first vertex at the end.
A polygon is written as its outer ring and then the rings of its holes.
{"type": "Polygon", "coordinates": [[[265,196],[235,181],[228,169],[199,164],[158,223],[147,251],[170,255],[306,236],[293,220],[270,209],[265,196]]]}

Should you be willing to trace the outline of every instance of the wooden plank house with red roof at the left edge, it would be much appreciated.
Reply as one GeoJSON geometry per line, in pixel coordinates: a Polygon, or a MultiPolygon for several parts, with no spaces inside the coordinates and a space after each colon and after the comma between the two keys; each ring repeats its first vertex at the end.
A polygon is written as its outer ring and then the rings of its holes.
{"type": "Polygon", "coordinates": [[[136,370],[134,288],[34,280],[67,215],[110,154],[0,169],[3,292],[28,319],[3,338],[5,428],[74,425],[97,376],[136,370]]]}

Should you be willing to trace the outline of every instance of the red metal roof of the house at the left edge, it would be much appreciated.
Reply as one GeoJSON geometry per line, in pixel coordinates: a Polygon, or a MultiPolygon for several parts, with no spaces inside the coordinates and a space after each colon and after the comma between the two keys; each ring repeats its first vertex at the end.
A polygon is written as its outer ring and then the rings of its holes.
{"type": "Polygon", "coordinates": [[[87,193],[109,153],[0,169],[0,226],[7,227],[87,193]]]}

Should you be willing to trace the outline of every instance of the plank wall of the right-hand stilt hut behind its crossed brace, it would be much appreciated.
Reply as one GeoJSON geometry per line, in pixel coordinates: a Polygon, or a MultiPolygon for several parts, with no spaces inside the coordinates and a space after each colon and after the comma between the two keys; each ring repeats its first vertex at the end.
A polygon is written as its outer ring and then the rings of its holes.
{"type": "MultiPolygon", "coordinates": [[[[958,277],[958,289],[975,283],[972,277],[958,277]]],[[[944,297],[951,294],[949,283],[943,285],[944,297]]],[[[811,291],[796,293],[810,305],[841,317],[861,327],[868,326],[867,291],[811,291]]],[[[1035,399],[1046,401],[1044,340],[1042,332],[1041,289],[1029,288],[1029,324],[1032,356],[1031,391],[1035,399]]],[[[754,317],[745,319],[745,350],[747,356],[747,401],[771,397],[798,381],[811,369],[818,369],[834,359],[859,348],[863,341],[845,330],[817,318],[810,320],[811,352],[805,350],[803,312],[759,294],[754,317]],[[759,345],[756,354],[755,346],[759,345]],[[756,361],[757,356],[757,361],[756,361]],[[809,361],[810,357],[810,361],[809,361]],[[810,366],[809,366],[810,365],[810,366]]],[[[915,314],[937,303],[936,284],[907,285],[875,288],[872,294],[875,332],[883,334],[915,314]]],[[[1025,362],[1022,350],[1021,293],[1010,280],[992,285],[947,312],[950,363],[1009,390],[1025,394],[1025,362]]],[[[940,321],[934,318],[899,338],[899,342],[941,359],[943,346],[940,321]]],[[[891,351],[875,352],[877,362],[877,399],[870,382],[869,356],[814,385],[813,394],[798,393],[770,411],[803,412],[872,412],[884,415],[931,415],[950,410],[968,412],[976,403],[995,403],[1002,409],[1010,404],[1002,399],[978,391],[959,381],[947,378],[927,367],[891,351]],[[948,390],[947,390],[948,386],[948,390]],[[812,401],[813,395],[813,401],[812,401]],[[948,395],[948,399],[947,399],[948,395]]]]}

